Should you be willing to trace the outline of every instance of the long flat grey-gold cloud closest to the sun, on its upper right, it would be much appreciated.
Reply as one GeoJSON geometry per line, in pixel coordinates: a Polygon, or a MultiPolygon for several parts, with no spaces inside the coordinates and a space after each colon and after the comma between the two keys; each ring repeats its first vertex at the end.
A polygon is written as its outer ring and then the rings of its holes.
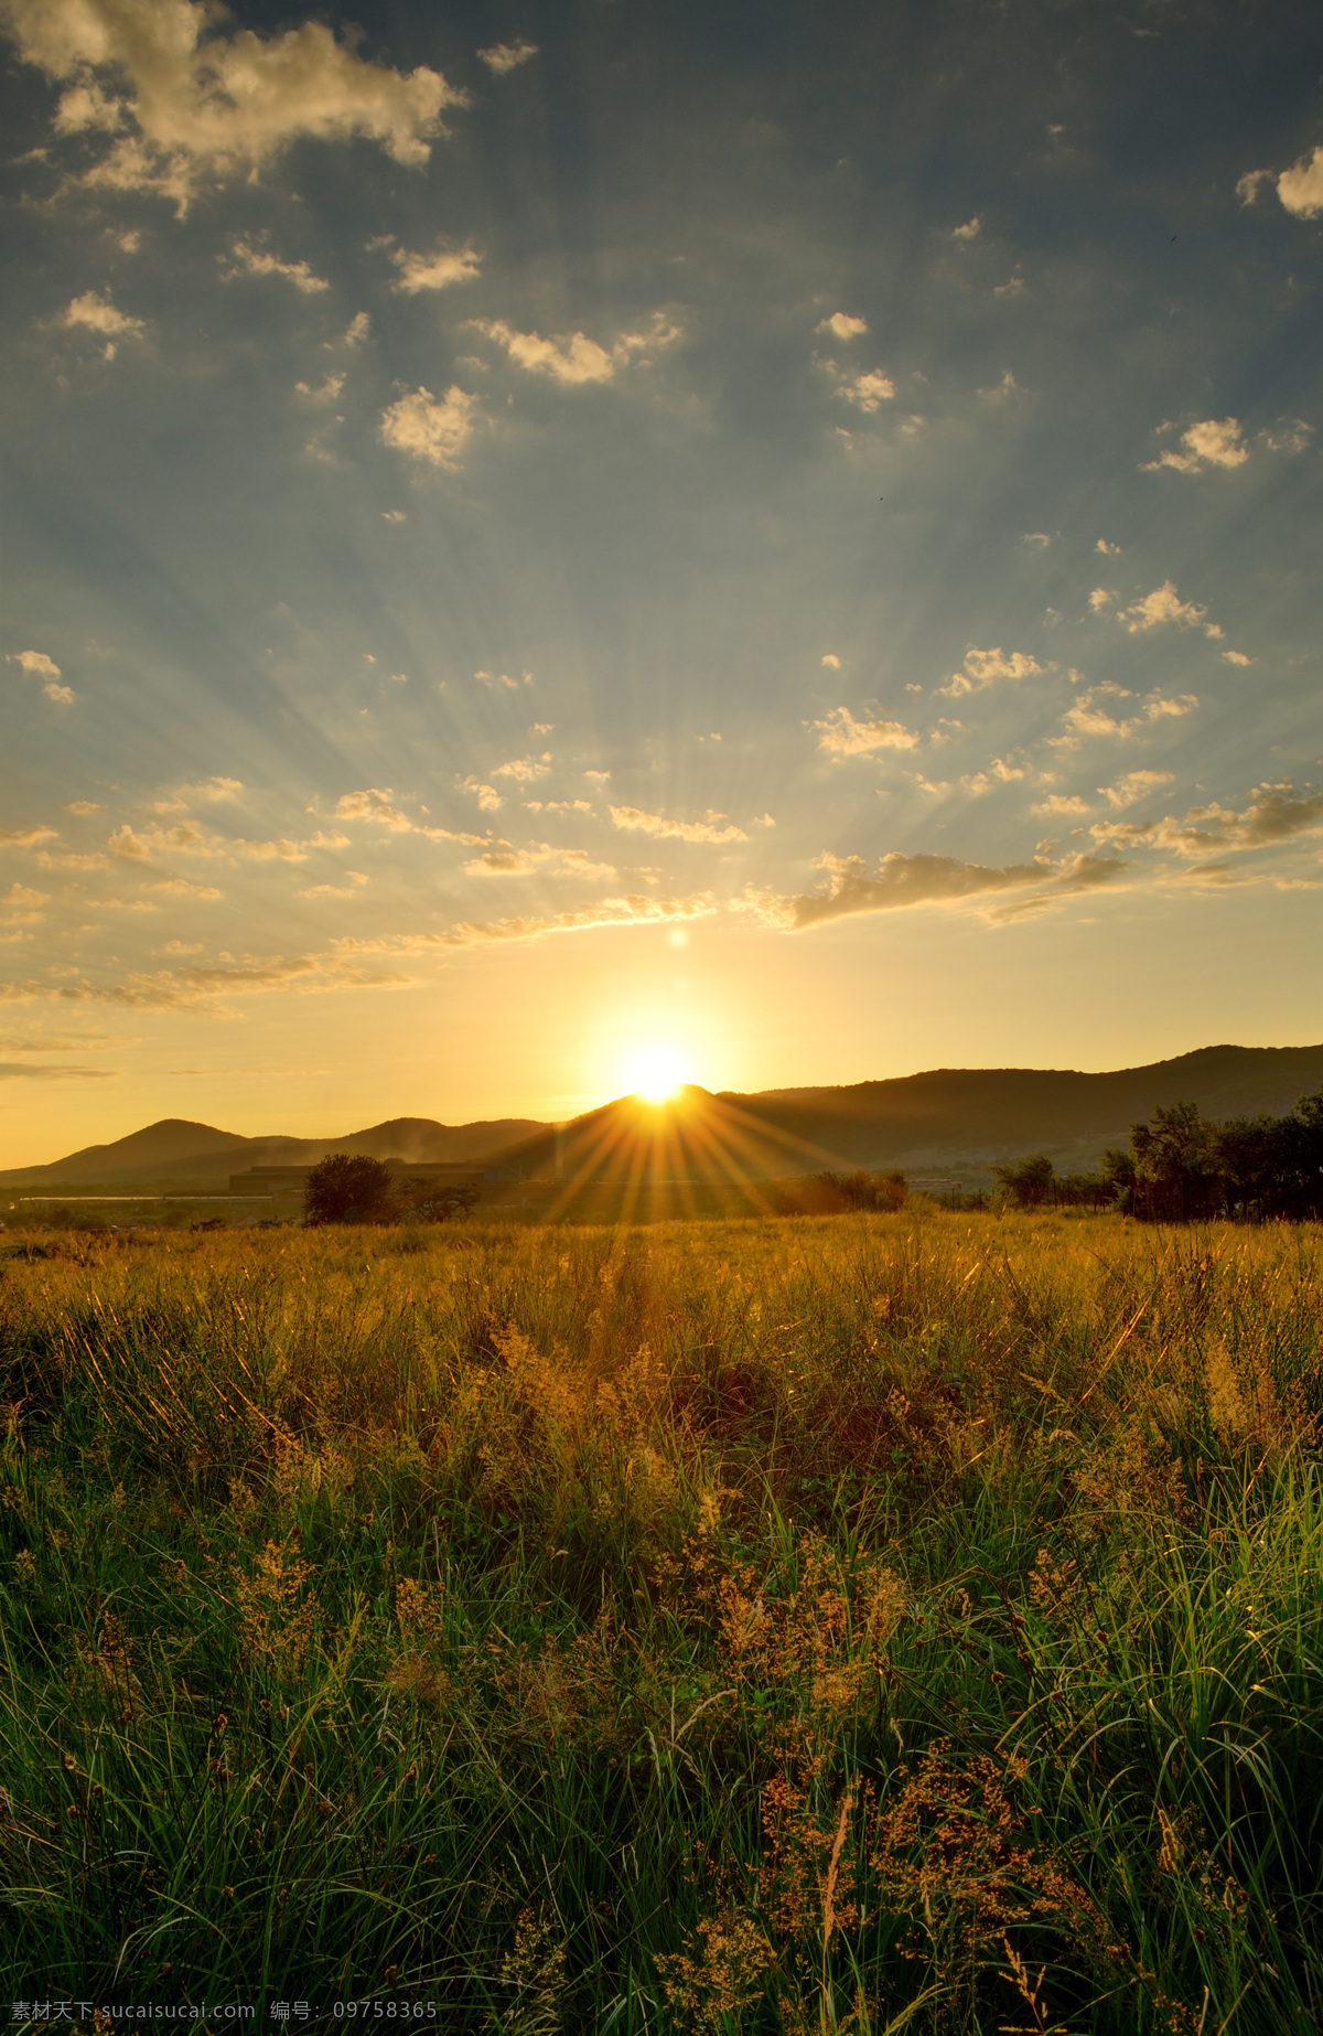
{"type": "Polygon", "coordinates": [[[969,904],[1001,892],[1032,890],[1036,902],[1050,902],[1069,892],[1111,884],[1126,869],[1115,857],[1075,855],[1050,863],[1036,855],[1032,863],[1008,863],[1001,869],[985,863],[963,863],[951,855],[883,855],[877,869],[859,855],[822,855],[826,888],[802,898],[778,898],[769,892],[747,892],[743,908],[763,924],[788,932],[804,932],[832,918],[857,912],[896,912],[918,904],[969,904]]]}

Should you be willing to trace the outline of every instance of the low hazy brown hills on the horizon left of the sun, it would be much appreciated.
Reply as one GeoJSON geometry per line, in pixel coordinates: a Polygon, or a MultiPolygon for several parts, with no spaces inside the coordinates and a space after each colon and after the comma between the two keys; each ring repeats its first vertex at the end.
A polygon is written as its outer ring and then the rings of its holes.
{"type": "Polygon", "coordinates": [[[242,1138],[238,1132],[216,1130],[214,1124],[161,1118],[112,1144],[69,1152],[49,1167],[10,1167],[0,1173],[0,1187],[155,1187],[165,1181],[224,1187],[232,1173],[246,1167],[313,1165],[328,1152],[368,1152],[372,1158],[403,1158],[411,1165],[484,1161],[539,1130],[545,1126],[535,1118],[482,1118],[476,1124],[389,1118],[336,1138],[242,1138]]]}

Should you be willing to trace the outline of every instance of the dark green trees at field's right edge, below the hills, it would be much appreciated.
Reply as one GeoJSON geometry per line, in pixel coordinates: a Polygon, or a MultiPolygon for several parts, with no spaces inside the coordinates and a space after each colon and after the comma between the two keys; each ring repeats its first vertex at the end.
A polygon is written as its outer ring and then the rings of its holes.
{"type": "Polygon", "coordinates": [[[1058,1175],[1044,1152],[993,1167],[1020,1209],[1121,1209],[1154,1224],[1323,1218],[1323,1085],[1284,1118],[1205,1118],[1166,1104],[1103,1152],[1097,1173],[1058,1175]]]}

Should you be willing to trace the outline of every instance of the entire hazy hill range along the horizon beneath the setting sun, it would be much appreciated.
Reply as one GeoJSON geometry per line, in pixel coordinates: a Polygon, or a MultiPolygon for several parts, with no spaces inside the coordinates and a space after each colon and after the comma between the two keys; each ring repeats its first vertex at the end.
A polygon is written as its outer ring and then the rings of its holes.
{"type": "Polygon", "coordinates": [[[476,1124],[389,1118],[338,1138],[242,1138],[163,1118],[49,1167],[10,1169],[0,1183],[222,1187],[248,1167],[311,1165],[326,1152],[413,1165],[501,1156],[525,1179],[775,1179],[822,1167],[977,1167],[1024,1152],[1081,1167],[1103,1146],[1124,1144],[1130,1124],[1158,1104],[1189,1099],[1209,1118],[1282,1116],[1321,1083],[1323,1044],[1203,1047],[1099,1075],[957,1067],[757,1095],[688,1087],[664,1112],[621,1097],[564,1126],[531,1118],[476,1124]]]}

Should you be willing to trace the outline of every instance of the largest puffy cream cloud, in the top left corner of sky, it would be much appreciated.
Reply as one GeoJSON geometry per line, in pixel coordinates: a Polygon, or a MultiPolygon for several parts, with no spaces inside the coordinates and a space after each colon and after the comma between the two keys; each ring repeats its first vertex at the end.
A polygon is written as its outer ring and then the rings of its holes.
{"type": "Polygon", "coordinates": [[[79,179],[157,191],[183,214],[204,179],[256,175],[289,143],[364,134],[421,167],[446,106],[440,71],[366,63],[318,20],[279,35],[222,26],[206,0],[4,0],[26,63],[63,92],[59,134],[104,134],[79,179]]]}

